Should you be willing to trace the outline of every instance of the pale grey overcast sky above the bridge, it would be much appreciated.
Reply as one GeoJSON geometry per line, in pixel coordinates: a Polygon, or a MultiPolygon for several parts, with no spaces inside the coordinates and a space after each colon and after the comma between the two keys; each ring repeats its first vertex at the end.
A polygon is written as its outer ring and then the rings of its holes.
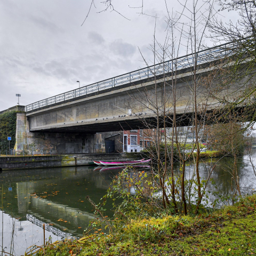
{"type": "MultiPolygon", "coordinates": [[[[183,0],[181,0],[182,2],[183,0]]],[[[55,94],[76,89],[145,67],[156,37],[166,36],[164,0],[144,0],[143,12],[133,9],[138,0],[114,0],[117,12],[102,12],[90,0],[1,0],[0,1],[0,111],[28,105],[55,94]],[[129,7],[130,6],[130,7],[129,7]]],[[[167,0],[169,11],[181,11],[178,1],[167,0]],[[173,8],[173,9],[172,9],[173,8]]],[[[184,1],[183,1],[184,2],[184,1]]],[[[208,42],[209,46],[211,42],[208,42]]]]}

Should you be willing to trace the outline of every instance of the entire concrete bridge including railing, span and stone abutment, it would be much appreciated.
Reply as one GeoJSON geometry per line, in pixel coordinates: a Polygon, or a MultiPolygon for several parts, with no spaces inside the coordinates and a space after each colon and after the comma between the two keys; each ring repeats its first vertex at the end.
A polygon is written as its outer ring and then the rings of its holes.
{"type": "MultiPolygon", "coordinates": [[[[213,61],[231,55],[230,50],[225,50],[227,45],[222,46],[199,52],[198,77],[203,79],[218,68],[213,61]]],[[[71,148],[72,153],[81,153],[81,148],[82,152],[88,148],[91,152],[101,152],[104,147],[101,132],[154,128],[157,111],[163,115],[164,105],[165,115],[172,117],[173,83],[178,125],[191,125],[194,115],[191,66],[193,55],[187,55],[32,103],[17,114],[15,149],[19,152],[24,147],[27,151],[59,148],[66,153],[71,148]],[[175,76],[174,69],[178,70],[175,76]]],[[[254,84],[242,81],[216,90],[220,81],[218,76],[214,79],[210,85],[202,82],[197,87],[197,106],[207,106],[207,111],[220,107],[219,99],[236,97],[254,84]]],[[[172,126],[169,118],[167,126],[172,126]]]]}

